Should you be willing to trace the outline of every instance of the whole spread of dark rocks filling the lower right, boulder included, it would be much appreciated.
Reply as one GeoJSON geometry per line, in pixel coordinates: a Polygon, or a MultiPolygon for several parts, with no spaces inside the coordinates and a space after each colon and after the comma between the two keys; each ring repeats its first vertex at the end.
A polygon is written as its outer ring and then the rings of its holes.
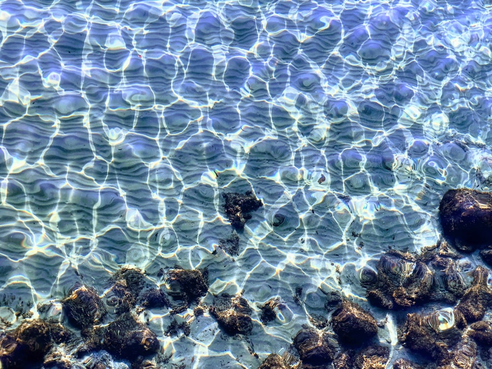
{"type": "MultiPolygon", "coordinates": [[[[473,270],[466,254],[477,251],[492,265],[492,195],[471,189],[446,192],[439,217],[443,239],[419,254],[389,249],[375,269],[361,271],[369,303],[394,310],[398,340],[422,362],[390,358],[390,348],[376,339],[378,323],[353,301],[341,299],[331,311],[329,326],[306,326],[293,337],[294,358],[302,368],[472,369],[490,367],[492,271],[473,270]],[[480,363],[479,363],[480,362],[480,363]]],[[[298,298],[299,304],[302,300],[298,298]]],[[[262,321],[273,318],[267,302],[262,321]]],[[[313,320],[313,319],[311,319],[313,320]]],[[[315,324],[314,324],[315,325],[315,324]]],[[[316,325],[315,325],[316,326],[316,325]]],[[[292,355],[271,355],[260,366],[294,368],[292,355]]]]}

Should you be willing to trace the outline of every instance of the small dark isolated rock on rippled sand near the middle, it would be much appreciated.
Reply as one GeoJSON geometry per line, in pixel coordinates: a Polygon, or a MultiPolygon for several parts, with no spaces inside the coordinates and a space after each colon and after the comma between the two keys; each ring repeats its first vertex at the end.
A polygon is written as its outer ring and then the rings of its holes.
{"type": "Polygon", "coordinates": [[[225,213],[234,228],[243,229],[246,221],[251,219],[250,212],[263,206],[261,200],[253,195],[252,191],[246,191],[243,195],[237,192],[222,194],[225,198],[225,213]]]}

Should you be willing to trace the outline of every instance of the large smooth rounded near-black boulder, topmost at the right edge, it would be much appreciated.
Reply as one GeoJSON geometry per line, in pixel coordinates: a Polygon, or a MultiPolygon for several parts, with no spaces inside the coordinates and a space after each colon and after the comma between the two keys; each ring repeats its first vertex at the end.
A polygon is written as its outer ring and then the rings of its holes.
{"type": "Polygon", "coordinates": [[[450,189],[441,199],[444,235],[458,249],[471,252],[492,244],[492,195],[473,189],[450,189]]]}

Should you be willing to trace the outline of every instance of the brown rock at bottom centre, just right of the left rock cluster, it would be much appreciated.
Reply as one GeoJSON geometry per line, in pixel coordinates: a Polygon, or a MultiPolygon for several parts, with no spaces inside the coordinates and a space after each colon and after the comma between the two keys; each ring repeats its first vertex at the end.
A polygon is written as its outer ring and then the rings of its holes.
{"type": "Polygon", "coordinates": [[[249,307],[246,299],[241,296],[227,294],[215,296],[209,311],[220,327],[229,335],[248,335],[253,330],[251,320],[253,310],[249,307]]]}

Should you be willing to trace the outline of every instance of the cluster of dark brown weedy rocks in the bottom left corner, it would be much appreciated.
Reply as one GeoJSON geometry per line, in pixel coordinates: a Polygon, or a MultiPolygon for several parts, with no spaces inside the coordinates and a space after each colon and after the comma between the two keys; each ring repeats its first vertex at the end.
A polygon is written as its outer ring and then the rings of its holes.
{"type": "Polygon", "coordinates": [[[132,368],[154,368],[146,357],[154,355],[160,344],[137,317],[139,312],[168,307],[173,313],[183,302],[187,307],[208,292],[204,270],[175,268],[166,276],[170,284],[167,293],[135,268],[117,271],[102,298],[93,287],[76,283],[54,303],[61,305],[66,327],[49,317],[52,306],[39,306],[46,319],[26,319],[16,329],[0,334],[0,366],[113,368],[107,357],[111,354],[131,363],[132,368]]]}

